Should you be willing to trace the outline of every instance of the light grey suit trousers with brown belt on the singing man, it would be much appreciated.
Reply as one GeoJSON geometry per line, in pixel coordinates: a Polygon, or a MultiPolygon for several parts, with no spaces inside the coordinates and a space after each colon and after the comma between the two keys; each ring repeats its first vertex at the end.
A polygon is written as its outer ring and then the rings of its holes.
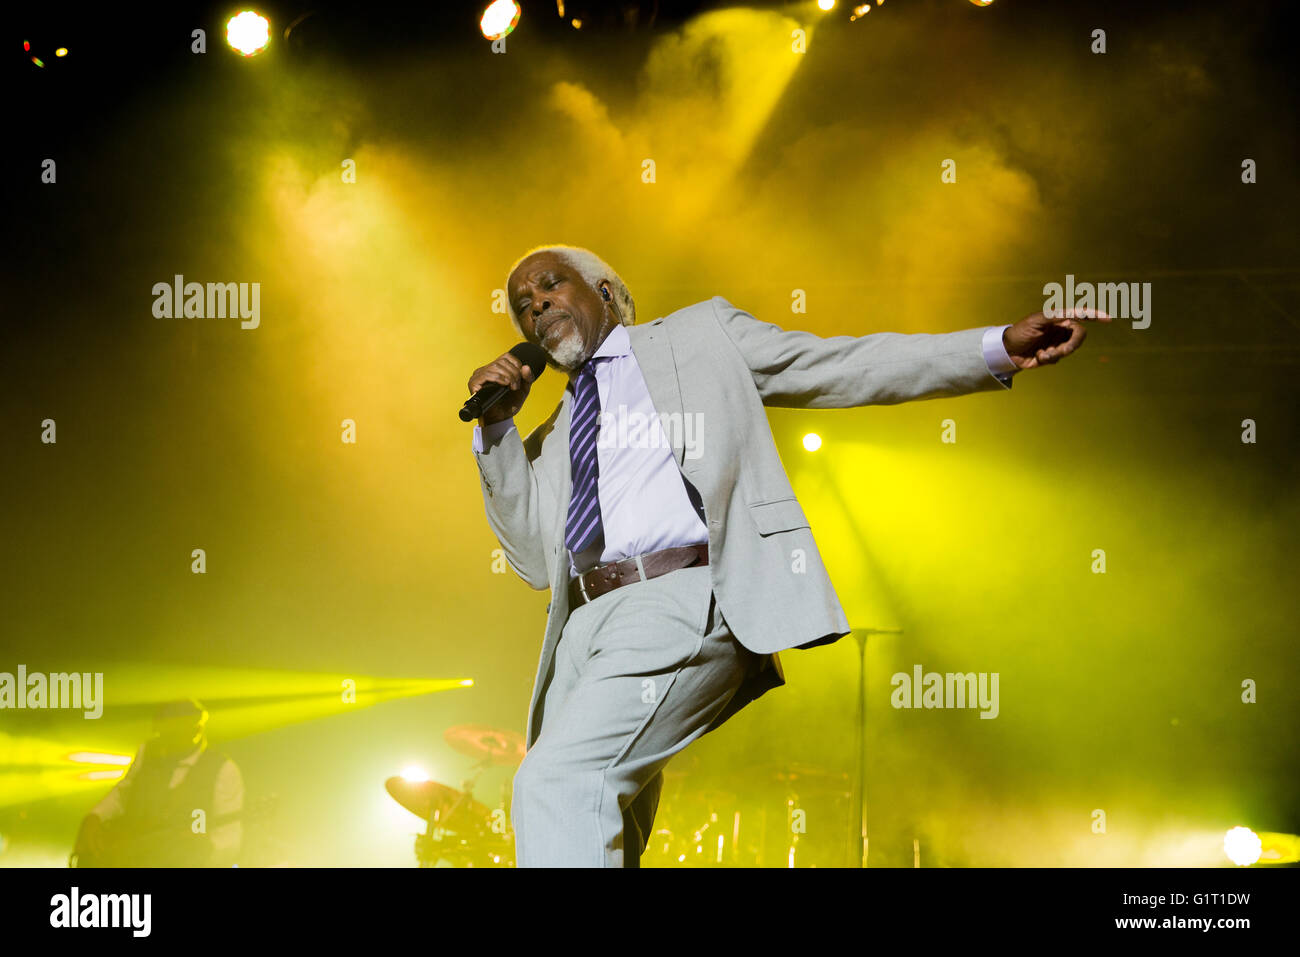
{"type": "Polygon", "coordinates": [[[519,867],[637,867],[673,754],[760,664],[718,610],[707,567],[624,585],[575,610],[515,775],[519,867]]]}

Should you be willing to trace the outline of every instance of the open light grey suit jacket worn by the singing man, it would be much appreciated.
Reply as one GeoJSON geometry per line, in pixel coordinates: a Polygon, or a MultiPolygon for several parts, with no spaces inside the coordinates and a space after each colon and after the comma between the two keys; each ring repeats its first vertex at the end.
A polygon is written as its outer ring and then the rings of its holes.
{"type": "MultiPolygon", "coordinates": [[[[685,455],[682,429],[668,429],[670,438],[703,501],[718,607],[736,640],[760,655],[760,667],[710,729],[785,683],[777,651],[849,633],[763,407],[852,408],[1006,390],[984,360],[983,333],[822,338],[762,322],[722,296],[628,329],[659,416],[670,423],[699,416],[702,454],[685,455]]],[[[541,731],[542,692],[569,614],[568,403],[566,390],[528,438],[511,432],[474,455],[488,523],[506,559],[533,588],[551,589],[528,746],[541,731]]]]}

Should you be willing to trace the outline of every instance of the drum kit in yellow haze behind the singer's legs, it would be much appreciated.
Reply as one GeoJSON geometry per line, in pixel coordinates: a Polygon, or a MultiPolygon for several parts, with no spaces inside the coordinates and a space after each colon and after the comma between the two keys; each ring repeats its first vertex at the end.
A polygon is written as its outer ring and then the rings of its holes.
{"type": "MultiPolygon", "coordinates": [[[[460,724],[447,744],[474,758],[459,789],[433,780],[389,778],[385,788],[425,822],[416,836],[420,867],[514,867],[515,840],[507,793],[495,807],[474,800],[478,778],[491,767],[524,759],[524,739],[511,731],[460,724]]],[[[811,765],[758,765],[741,776],[751,797],[741,801],[722,788],[694,787],[697,762],[688,755],[664,770],[658,827],[646,841],[646,867],[842,866],[844,827],[852,815],[850,775],[811,765]],[[810,815],[818,827],[805,827],[810,815]],[[810,833],[820,840],[810,841],[810,833]],[[824,836],[824,837],[823,837],[824,836]]],[[[504,788],[508,792],[508,787],[504,788]]]]}

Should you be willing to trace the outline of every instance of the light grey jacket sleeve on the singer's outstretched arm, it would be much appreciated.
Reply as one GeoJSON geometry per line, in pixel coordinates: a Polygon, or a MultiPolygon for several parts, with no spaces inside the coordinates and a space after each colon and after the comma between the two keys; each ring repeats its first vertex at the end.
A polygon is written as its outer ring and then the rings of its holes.
{"type": "Polygon", "coordinates": [[[785,330],[712,298],[723,333],[744,358],[764,406],[892,406],[1010,389],[984,358],[985,328],[823,338],[785,330]]]}

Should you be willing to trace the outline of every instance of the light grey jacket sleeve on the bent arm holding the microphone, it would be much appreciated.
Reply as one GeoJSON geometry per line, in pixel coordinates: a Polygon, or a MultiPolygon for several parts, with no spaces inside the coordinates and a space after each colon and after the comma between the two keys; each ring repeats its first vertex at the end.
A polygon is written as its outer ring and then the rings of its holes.
{"type": "MultiPolygon", "coordinates": [[[[473,452],[478,463],[488,524],[506,560],[524,581],[541,590],[550,586],[538,503],[537,473],[514,421],[484,434],[474,426],[473,452]]],[[[533,437],[529,436],[529,442],[533,437]]]]}

